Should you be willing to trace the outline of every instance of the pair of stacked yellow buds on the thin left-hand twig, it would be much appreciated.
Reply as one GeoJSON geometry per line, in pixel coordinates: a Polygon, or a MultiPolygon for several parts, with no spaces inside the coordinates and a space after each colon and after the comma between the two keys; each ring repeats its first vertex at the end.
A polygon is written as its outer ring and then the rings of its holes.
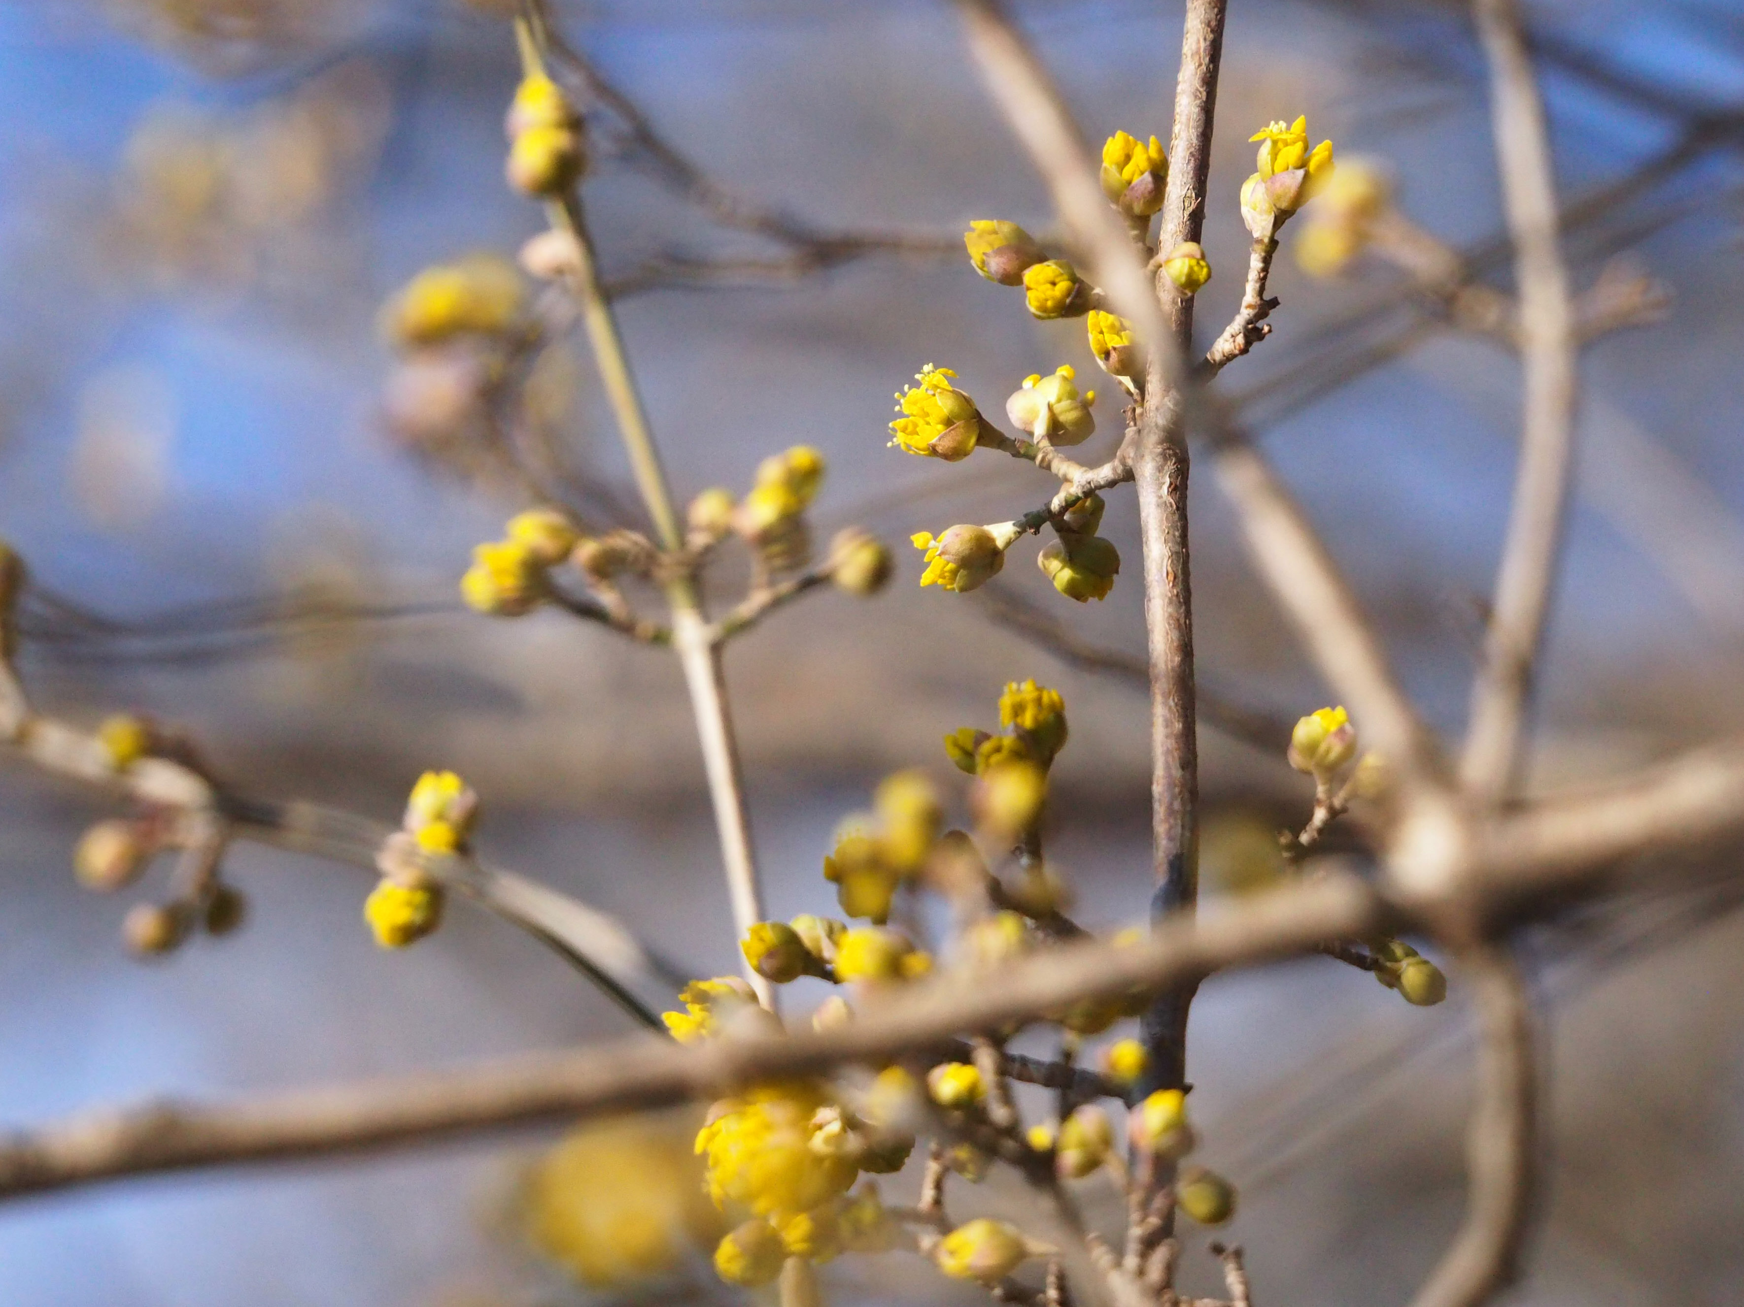
{"type": "Polygon", "coordinates": [[[431,857],[464,854],[478,821],[478,795],[453,772],[424,772],[412,786],[401,828],[375,856],[382,873],[363,901],[363,920],[382,948],[405,948],[441,925],[443,887],[431,857]]]}

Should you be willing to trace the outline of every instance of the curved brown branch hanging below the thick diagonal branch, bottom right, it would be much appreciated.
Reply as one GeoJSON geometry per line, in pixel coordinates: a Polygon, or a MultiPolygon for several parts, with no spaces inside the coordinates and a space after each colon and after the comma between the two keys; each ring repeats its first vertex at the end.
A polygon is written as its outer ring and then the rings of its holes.
{"type": "Polygon", "coordinates": [[[1536,1070],[1526,985],[1496,945],[1461,953],[1477,1006],[1477,1096],[1467,1138],[1465,1223],[1413,1307],[1479,1307],[1517,1274],[1533,1195],[1536,1070]]]}

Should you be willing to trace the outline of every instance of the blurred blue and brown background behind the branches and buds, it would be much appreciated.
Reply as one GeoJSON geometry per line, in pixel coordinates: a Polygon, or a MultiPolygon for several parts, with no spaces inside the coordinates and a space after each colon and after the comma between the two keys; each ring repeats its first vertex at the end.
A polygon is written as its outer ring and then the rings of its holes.
{"type": "MultiPolygon", "coordinates": [[[[541,227],[502,185],[516,68],[501,10],[0,5],[0,535],[38,587],[21,671],[44,709],[80,723],[126,709],[185,727],[253,793],[392,821],[420,770],[453,767],[483,795],[487,857],[713,974],[732,967],[732,932],[675,664],[560,613],[504,622],[460,608],[471,545],[527,502],[525,460],[478,437],[476,359],[408,357],[378,328],[420,268],[513,258],[541,227]]],[[[1461,5],[1231,10],[1205,338],[1240,296],[1245,138],[1299,112],[1341,160],[1371,159],[1399,211],[1467,254],[1481,284],[1507,289],[1484,68],[1461,5]]],[[[961,256],[970,218],[1043,234],[1050,216],[949,7],[588,0],[555,12],[645,125],[787,223],[788,239],[769,239],[719,221],[621,106],[589,113],[595,234],[678,493],[743,490],[764,455],[811,443],[830,460],[820,535],[863,523],[898,551],[881,598],[823,593],[732,648],[773,910],[828,910],[818,870],[835,823],[895,767],[952,786],[940,735],[991,725],[999,687],[1034,676],[1064,692],[1073,723],[1050,854],[1080,918],[1137,920],[1149,816],[1142,690],[1120,671],[1144,648],[1130,491],[1109,495],[1104,530],[1127,573],[1106,603],[1053,594],[1027,544],[1003,598],[947,596],[916,586],[905,537],[1012,518],[1046,488],[1010,460],[923,464],[884,448],[891,392],[930,361],[992,410],[1060,362],[1106,380],[1078,322],[1032,322],[961,256]],[[865,234],[877,239],[844,240],[865,234]],[[1062,629],[1114,671],[1048,648],[1062,629]]],[[[1167,139],[1177,3],[1048,0],[1020,16],[1087,134],[1167,139]]],[[[1535,760],[1549,786],[1744,728],[1744,5],[1540,0],[1528,17],[1577,286],[1652,277],[1667,298],[1659,321],[1584,357],[1535,760]]],[[[1456,732],[1505,523],[1517,366],[1367,251],[1308,277],[1289,258],[1299,235],[1285,232],[1273,338],[1221,385],[1357,579],[1411,690],[1456,732]]],[[[1088,455],[1113,450],[1111,399],[1088,455]]],[[[612,509],[633,495],[579,340],[539,352],[527,411],[551,460],[539,471],[596,523],[635,525],[612,509]]],[[[1221,721],[1250,727],[1202,728],[1207,891],[1231,892],[1270,873],[1271,831],[1311,802],[1282,737],[1261,748],[1270,723],[1325,692],[1209,474],[1193,495],[1200,678],[1228,709],[1221,721]]],[[[720,596],[739,584],[726,565],[720,596]]],[[[258,847],[228,859],[251,904],[242,932],[134,962],[119,939],[126,904],[80,894],[68,871],[99,816],[89,793],[0,767],[9,1126],[624,1033],[610,1004],[501,922],[460,906],[417,950],[380,953],[359,922],[368,877],[258,847]]],[[[1667,863],[1652,891],[1528,941],[1554,1126],[1519,1302],[1737,1302],[1737,852],[1667,863]]],[[[1463,1030],[1456,978],[1432,1011],[1324,958],[1205,986],[1195,1108],[1205,1159],[1243,1195],[1233,1234],[1256,1302],[1390,1302],[1421,1279],[1461,1202],[1463,1030]]],[[[539,1175],[595,1211],[624,1188],[609,1178],[626,1148],[645,1162],[626,1138],[584,1141],[563,1183],[539,1175]]],[[[0,1211],[0,1298],[722,1298],[694,1258],[628,1279],[595,1255],[616,1236],[570,1237],[595,1251],[572,1251],[569,1274],[530,1251],[525,1164],[549,1143],[14,1202],[0,1211]]],[[[637,1173],[652,1175],[644,1162],[637,1173]]],[[[682,1162],[671,1168],[684,1188],[682,1162]]],[[[956,1206],[1001,1201],[994,1185],[956,1206]]],[[[1189,1263],[1188,1284],[1209,1291],[1212,1260],[1195,1248],[1189,1263]]],[[[839,1302],[975,1300],[912,1256],[844,1258],[825,1286],[839,1302]]]]}

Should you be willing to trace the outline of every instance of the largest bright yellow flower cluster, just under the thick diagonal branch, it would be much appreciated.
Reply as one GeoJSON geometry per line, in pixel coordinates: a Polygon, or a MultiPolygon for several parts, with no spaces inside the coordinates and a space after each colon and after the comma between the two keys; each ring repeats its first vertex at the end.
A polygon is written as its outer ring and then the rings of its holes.
{"type": "Polygon", "coordinates": [[[825,1105],[825,1094],[807,1082],[762,1086],[715,1103],[696,1136],[715,1206],[741,1202],[759,1216],[783,1220],[844,1194],[855,1164],[811,1147],[811,1122],[825,1105]]]}

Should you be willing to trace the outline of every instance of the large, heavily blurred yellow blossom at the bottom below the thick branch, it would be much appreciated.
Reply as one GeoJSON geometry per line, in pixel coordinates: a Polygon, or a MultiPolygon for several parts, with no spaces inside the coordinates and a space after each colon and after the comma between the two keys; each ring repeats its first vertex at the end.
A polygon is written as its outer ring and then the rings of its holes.
{"type": "Polygon", "coordinates": [[[534,1246],[591,1288],[671,1270],[722,1227],[687,1133],[642,1117],[565,1134],[528,1171],[521,1215],[534,1246]]]}

